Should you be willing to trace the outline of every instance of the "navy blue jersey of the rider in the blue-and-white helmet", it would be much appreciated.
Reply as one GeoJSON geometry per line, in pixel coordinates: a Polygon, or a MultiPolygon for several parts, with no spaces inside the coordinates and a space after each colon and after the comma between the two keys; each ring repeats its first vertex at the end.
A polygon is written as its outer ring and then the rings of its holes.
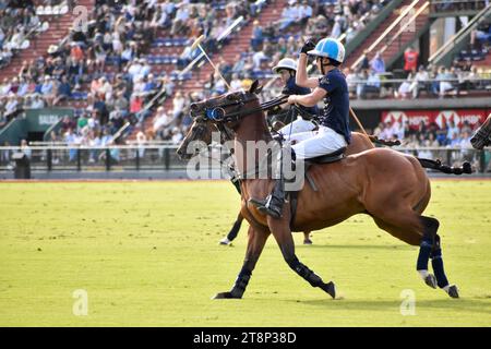
{"type": "Polygon", "coordinates": [[[343,135],[349,144],[349,92],[345,75],[336,68],[319,79],[319,87],[325,89],[324,110],[320,115],[322,125],[343,135]]]}

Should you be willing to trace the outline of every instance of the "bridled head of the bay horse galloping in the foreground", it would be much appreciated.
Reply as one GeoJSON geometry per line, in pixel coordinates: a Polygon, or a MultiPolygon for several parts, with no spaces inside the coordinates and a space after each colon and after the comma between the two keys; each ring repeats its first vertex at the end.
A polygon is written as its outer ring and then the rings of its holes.
{"type": "Polygon", "coordinates": [[[215,98],[211,98],[191,105],[191,117],[195,120],[209,120],[215,124],[225,124],[233,129],[241,119],[248,115],[248,110],[260,108],[258,94],[262,87],[254,81],[247,92],[231,92],[215,98]]]}

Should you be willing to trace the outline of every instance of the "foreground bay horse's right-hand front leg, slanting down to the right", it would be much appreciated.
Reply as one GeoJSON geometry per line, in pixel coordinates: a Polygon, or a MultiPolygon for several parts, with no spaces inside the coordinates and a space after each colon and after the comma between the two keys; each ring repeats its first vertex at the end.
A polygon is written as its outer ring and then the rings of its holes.
{"type": "MultiPolygon", "coordinates": [[[[286,209],[284,209],[284,212],[285,210],[286,209]]],[[[294,237],[291,236],[288,221],[288,217],[284,217],[282,219],[276,219],[273,217],[267,218],[267,225],[270,226],[271,232],[275,237],[276,242],[282,250],[282,254],[286,263],[291,269],[295,270],[295,273],[306,279],[306,281],[308,281],[312,287],[319,287],[327,292],[333,299],[336,298],[336,287],[334,282],[330,281],[325,284],[319,275],[309,269],[309,267],[298,260],[295,254],[294,237]]]]}

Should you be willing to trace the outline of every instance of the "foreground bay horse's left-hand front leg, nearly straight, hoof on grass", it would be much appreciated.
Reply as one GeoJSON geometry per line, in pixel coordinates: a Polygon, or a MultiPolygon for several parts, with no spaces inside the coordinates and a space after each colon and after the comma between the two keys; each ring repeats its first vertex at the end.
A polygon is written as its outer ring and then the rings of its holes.
{"type": "Polygon", "coordinates": [[[229,292],[217,293],[214,299],[226,299],[226,298],[242,298],[246,288],[248,287],[249,280],[251,279],[252,270],[258,263],[258,260],[263,252],[264,245],[266,244],[270,231],[266,229],[256,229],[249,227],[248,231],[248,249],[246,252],[246,258],[243,261],[242,269],[237,276],[236,282],[229,292]]]}

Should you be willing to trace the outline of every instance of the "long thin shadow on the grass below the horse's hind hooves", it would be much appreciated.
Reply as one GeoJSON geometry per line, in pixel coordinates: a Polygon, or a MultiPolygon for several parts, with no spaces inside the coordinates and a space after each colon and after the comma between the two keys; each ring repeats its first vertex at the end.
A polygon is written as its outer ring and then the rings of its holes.
{"type": "MultiPolygon", "coordinates": [[[[306,300],[306,301],[292,301],[312,306],[324,306],[332,310],[343,309],[345,311],[387,311],[399,309],[400,300],[387,301],[387,300],[306,300]]],[[[466,313],[483,313],[491,315],[491,301],[475,299],[475,298],[462,298],[462,299],[439,299],[439,300],[416,300],[416,306],[426,310],[452,310],[466,313]]]]}

